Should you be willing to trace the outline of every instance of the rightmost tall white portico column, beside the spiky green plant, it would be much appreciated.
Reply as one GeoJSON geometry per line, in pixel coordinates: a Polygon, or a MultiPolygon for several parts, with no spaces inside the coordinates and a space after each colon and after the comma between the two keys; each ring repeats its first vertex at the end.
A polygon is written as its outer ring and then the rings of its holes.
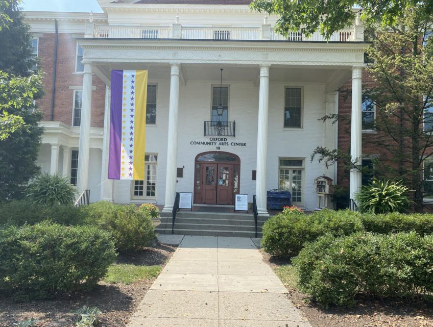
{"type": "MultiPolygon", "coordinates": [[[[353,67],[352,69],[352,124],[350,134],[350,155],[352,161],[360,160],[362,157],[362,74],[363,69],[353,67]]],[[[354,199],[355,194],[361,187],[361,172],[358,169],[350,171],[350,198],[354,199]]]]}

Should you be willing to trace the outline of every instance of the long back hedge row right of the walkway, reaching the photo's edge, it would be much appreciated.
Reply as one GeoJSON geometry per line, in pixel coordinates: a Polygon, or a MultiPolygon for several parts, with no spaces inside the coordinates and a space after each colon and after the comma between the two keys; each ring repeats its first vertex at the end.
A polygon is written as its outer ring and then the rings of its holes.
{"type": "Polygon", "coordinates": [[[433,234],[433,215],[360,214],[349,210],[278,214],[263,224],[261,244],[272,256],[291,258],[298,255],[304,243],[327,233],[345,236],[360,231],[377,234],[415,231],[424,236],[433,234]]]}

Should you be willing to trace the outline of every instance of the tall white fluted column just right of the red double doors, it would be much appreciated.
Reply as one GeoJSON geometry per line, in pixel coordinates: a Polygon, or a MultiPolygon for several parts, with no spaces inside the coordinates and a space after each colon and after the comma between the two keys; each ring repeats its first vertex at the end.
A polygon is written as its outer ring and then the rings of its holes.
{"type": "Polygon", "coordinates": [[[258,100],[257,125],[257,179],[256,201],[257,210],[261,215],[267,215],[266,206],[266,163],[268,155],[268,107],[269,107],[269,66],[260,66],[260,91],[258,100]]]}

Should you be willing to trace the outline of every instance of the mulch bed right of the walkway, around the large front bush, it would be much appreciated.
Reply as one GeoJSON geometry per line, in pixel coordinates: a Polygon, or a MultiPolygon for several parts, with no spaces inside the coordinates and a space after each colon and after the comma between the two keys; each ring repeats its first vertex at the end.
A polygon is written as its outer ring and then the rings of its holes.
{"type": "MultiPolygon", "coordinates": [[[[270,258],[263,251],[263,260],[271,267],[290,262],[270,258]]],[[[286,286],[287,287],[287,286],[286,286]]],[[[433,303],[416,300],[358,298],[353,308],[323,309],[307,303],[307,295],[287,287],[288,298],[308,319],[312,327],[433,327],[433,303]]]]}

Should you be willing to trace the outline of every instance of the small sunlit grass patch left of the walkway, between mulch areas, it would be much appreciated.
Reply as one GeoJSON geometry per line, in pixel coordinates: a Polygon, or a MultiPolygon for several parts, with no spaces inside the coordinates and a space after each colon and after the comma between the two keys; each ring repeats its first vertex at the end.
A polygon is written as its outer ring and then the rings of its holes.
{"type": "Polygon", "coordinates": [[[113,264],[108,267],[104,282],[110,284],[132,284],[139,280],[155,278],[160,271],[161,266],[113,264]]]}

